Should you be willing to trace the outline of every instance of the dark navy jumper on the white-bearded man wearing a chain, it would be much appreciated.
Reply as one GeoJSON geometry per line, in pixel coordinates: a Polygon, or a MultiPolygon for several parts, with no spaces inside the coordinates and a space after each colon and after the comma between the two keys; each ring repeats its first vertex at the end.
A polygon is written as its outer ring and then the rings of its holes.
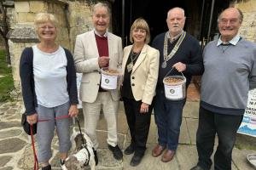
{"type": "MultiPolygon", "coordinates": [[[[187,79],[186,87],[188,88],[192,76],[201,75],[204,71],[201,46],[199,45],[199,42],[195,39],[195,37],[192,37],[187,33],[183,39],[183,42],[180,44],[176,54],[174,54],[172,59],[169,59],[167,61],[166,68],[162,68],[161,65],[164,61],[163,49],[165,35],[166,32],[161,33],[160,35],[155,37],[152,42],[152,47],[160,51],[160,67],[156,89],[164,89],[163,79],[166,76],[167,72],[172,69],[172,65],[176,64],[177,62],[182,62],[186,65],[186,70],[183,71],[183,75],[187,79]]],[[[168,41],[167,54],[171,53],[172,48],[174,48],[177,41],[178,38],[172,43],[168,41]]],[[[181,75],[181,73],[177,72],[176,69],[173,69],[169,76],[170,75],[181,75]]]]}

